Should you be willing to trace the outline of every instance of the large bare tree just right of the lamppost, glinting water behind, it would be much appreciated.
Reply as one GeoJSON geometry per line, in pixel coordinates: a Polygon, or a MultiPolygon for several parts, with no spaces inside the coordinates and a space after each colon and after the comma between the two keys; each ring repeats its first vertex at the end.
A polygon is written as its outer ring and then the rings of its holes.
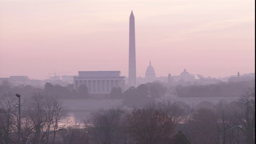
{"type": "Polygon", "coordinates": [[[58,129],[68,124],[67,109],[56,97],[35,93],[22,119],[23,142],[54,143],[58,129]]]}

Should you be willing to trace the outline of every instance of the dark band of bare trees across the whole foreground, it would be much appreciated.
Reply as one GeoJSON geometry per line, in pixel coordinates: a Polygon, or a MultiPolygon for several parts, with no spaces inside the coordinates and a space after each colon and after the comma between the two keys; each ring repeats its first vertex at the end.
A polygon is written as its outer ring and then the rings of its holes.
{"type": "MultiPolygon", "coordinates": [[[[1,144],[18,142],[17,104],[14,94],[1,97],[1,144]]],[[[101,109],[79,124],[70,121],[68,110],[54,96],[34,93],[32,100],[22,101],[21,110],[23,144],[218,144],[220,139],[222,144],[255,143],[254,89],[236,105],[220,101],[212,109],[195,109],[149,102],[132,110],[101,109]],[[242,128],[233,128],[238,125],[242,128]]]]}

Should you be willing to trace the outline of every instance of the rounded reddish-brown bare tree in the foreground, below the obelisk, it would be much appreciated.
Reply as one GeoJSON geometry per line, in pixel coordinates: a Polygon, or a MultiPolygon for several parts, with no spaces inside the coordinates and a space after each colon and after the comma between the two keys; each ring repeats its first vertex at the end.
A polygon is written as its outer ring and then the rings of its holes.
{"type": "Polygon", "coordinates": [[[137,144],[168,144],[174,132],[172,117],[154,104],[127,114],[128,132],[137,144]]]}

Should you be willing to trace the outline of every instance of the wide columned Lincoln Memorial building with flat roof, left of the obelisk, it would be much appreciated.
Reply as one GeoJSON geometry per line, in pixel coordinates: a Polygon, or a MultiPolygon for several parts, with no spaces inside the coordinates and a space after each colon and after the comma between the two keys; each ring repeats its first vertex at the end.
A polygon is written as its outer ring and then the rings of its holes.
{"type": "Polygon", "coordinates": [[[113,87],[120,87],[124,91],[124,78],[120,71],[79,71],[74,76],[74,89],[85,84],[90,94],[109,94],[113,87]]]}

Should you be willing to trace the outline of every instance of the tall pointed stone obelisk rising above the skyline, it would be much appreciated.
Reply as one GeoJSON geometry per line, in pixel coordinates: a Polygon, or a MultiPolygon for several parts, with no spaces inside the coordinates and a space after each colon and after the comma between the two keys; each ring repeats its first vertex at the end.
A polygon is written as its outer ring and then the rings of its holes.
{"type": "Polygon", "coordinates": [[[129,74],[128,85],[136,88],[135,22],[133,12],[129,24],[129,74]]]}

